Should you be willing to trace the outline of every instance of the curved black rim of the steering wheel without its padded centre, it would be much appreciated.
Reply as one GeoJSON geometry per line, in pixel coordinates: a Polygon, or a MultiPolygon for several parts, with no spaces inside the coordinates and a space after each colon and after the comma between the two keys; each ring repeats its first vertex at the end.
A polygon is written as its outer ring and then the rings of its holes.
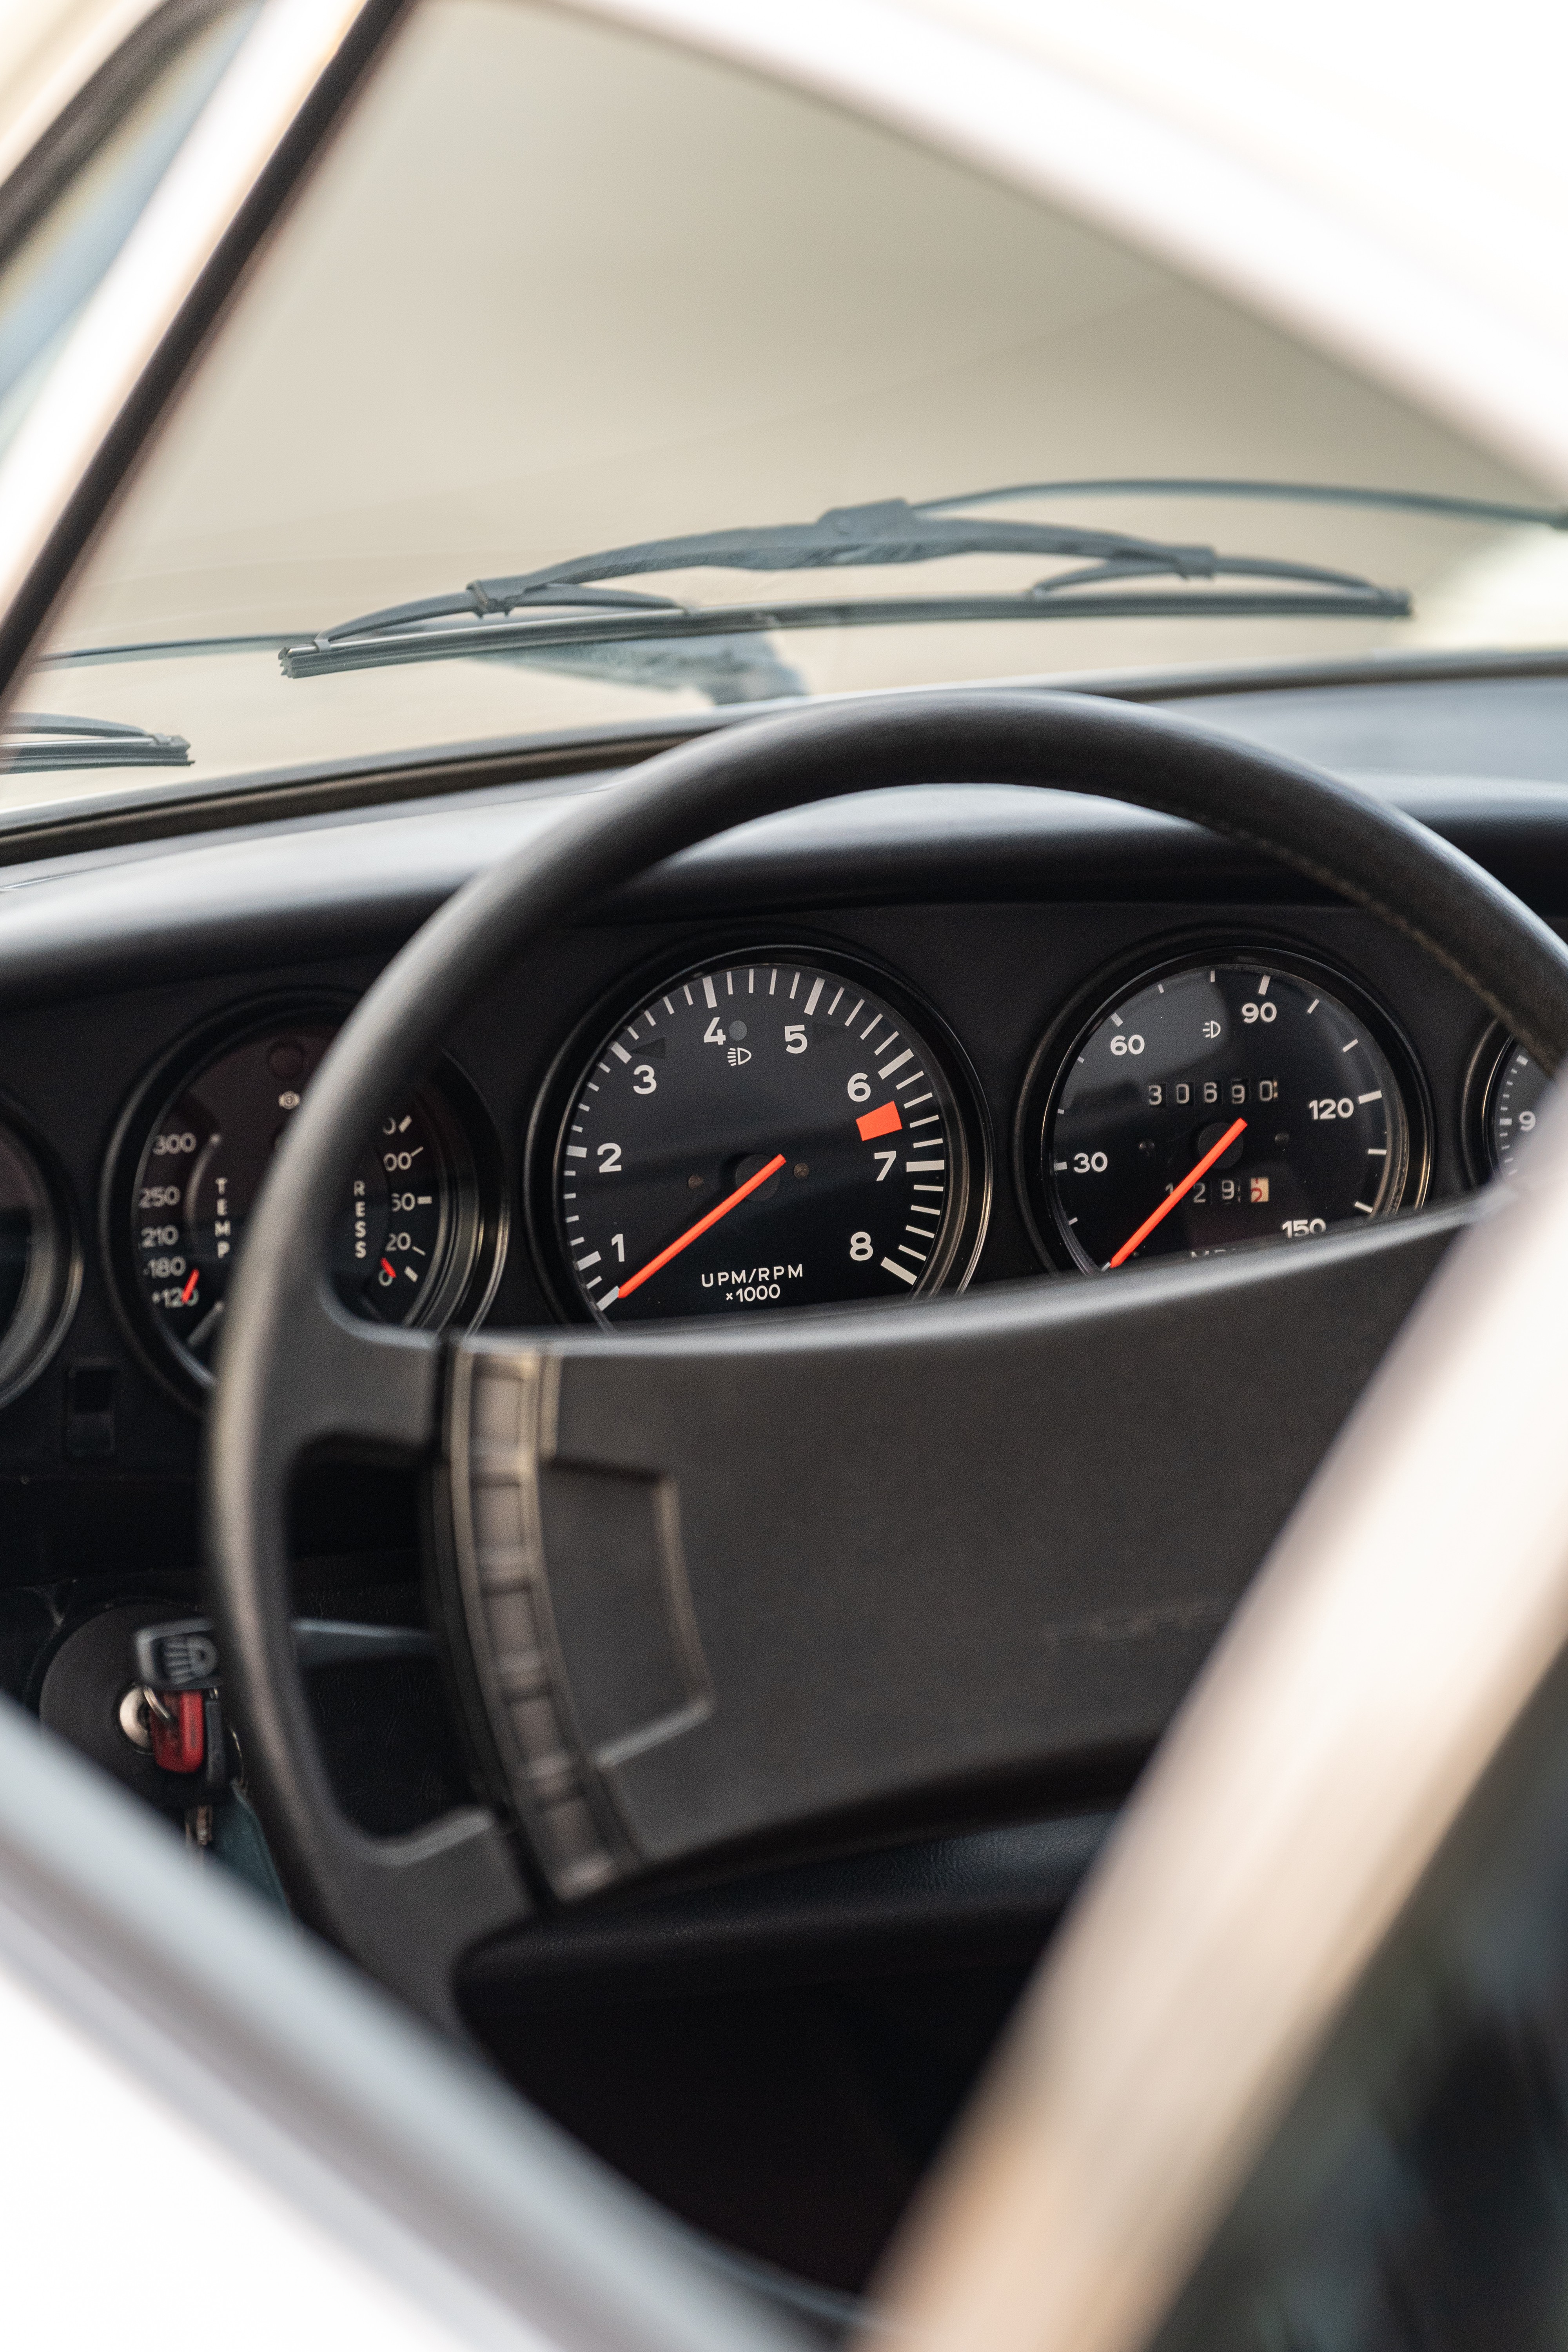
{"type": "MultiPolygon", "coordinates": [[[[1568,950],[1458,849],[1295,762],[1088,696],[900,694],[724,729],[651,760],[611,795],[571,802],[527,851],[458,891],[364,995],[292,1122],[230,1296],[205,1463],[226,1686],[289,1893],[374,1973],[447,2020],[456,1955],[529,1907],[512,1844],[517,1806],[491,1769],[496,1806],[512,1813],[505,1825],[475,1806],[407,1839],[355,1832],[315,1752],[289,1637],[294,1463],[322,1437],[428,1454],[447,1381],[440,1343],[350,1327],[327,1291],[324,1237],[360,1141],[484,985],[649,866],[806,802],[973,781],[1126,800],[1265,851],[1434,955],[1542,1065],[1554,1070],[1568,1054],[1568,950]]],[[[863,1310],[872,1327],[914,1312],[863,1310]]],[[[943,1308],[919,1312],[924,1324],[900,1329],[929,1329],[943,1308]]],[[[456,1606],[451,1618],[444,1632],[461,1684],[473,1679],[477,1621],[470,1611],[463,1630],[456,1606]]]]}

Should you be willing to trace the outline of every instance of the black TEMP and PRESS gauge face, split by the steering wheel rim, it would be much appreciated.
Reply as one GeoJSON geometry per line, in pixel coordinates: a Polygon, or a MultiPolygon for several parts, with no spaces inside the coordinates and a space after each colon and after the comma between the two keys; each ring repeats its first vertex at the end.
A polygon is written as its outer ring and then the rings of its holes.
{"type": "MultiPolygon", "coordinates": [[[[176,1359],[207,1371],[261,1181],[331,1044],[327,1021],[280,1023],[209,1061],[165,1101],[132,1176],[139,1298],[176,1359]]],[[[435,1089],[367,1136],[334,1225],[339,1296],[371,1322],[442,1322],[480,1247],[468,1141],[435,1089]]]]}

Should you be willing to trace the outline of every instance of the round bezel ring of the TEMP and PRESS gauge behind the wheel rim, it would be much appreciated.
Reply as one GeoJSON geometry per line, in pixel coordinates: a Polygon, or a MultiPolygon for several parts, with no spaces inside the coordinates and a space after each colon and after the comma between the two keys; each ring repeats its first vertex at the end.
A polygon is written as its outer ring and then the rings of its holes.
{"type": "MultiPolygon", "coordinates": [[[[132,1251],[132,1195],[146,1138],[186,1087],[214,1061],[256,1037],[266,1037],[275,1028],[324,1023],[341,1028],[353,1009],[355,1000],[346,995],[301,993],[230,1007],[188,1030],[162,1054],[136,1082],[115,1122],[99,1188],[99,1247],[127,1334],[136,1343],[146,1367],[183,1404],[200,1406],[214,1388],[214,1376],[207,1364],[197,1362],[179,1338],[158,1324],[141,1291],[132,1251]]],[[[468,1331],[484,1317],[496,1296],[505,1263],[510,1204],[501,1138],[477,1089],[449,1056],[442,1056],[409,1094],[423,1098],[451,1152],[451,1183],[458,1209],[456,1232],[444,1244],[440,1279],[421,1301],[416,1324],[468,1331]]]]}

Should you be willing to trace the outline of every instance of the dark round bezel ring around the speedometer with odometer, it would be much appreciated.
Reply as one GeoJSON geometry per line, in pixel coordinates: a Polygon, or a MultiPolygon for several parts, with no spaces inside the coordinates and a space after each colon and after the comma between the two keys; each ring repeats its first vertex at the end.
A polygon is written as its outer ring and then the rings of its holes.
{"type": "MultiPolygon", "coordinates": [[[[1399,1087],[1399,1112],[1403,1129],[1403,1167],[1399,1181],[1389,1183],[1389,1204],[1378,1211],[1380,1221],[1401,1209],[1420,1209],[1432,1183],[1432,1096],[1415,1049],[1387,1004],[1347,971],[1345,964],[1328,962],[1314,950],[1300,948],[1291,938],[1246,931],[1232,938],[1215,931],[1175,934],[1159,943],[1154,953],[1145,946],[1135,957],[1126,957],[1081,988],[1058,1014],[1039,1040],[1013,1115],[1013,1183],[1023,1209],[1030,1242],[1048,1272],[1086,1275],[1100,1272],[1091,1265],[1072,1240],[1063,1232],[1056,1202],[1044,1174],[1044,1136],[1056,1101],[1084,1047],[1084,1040],[1110,1018],[1110,1014],[1140,988],[1150,988],[1192,964],[1248,964],[1288,971],[1338,997],[1356,1021],[1363,1021],[1380,1054],[1387,1058],[1399,1087]]],[[[1246,1249],[1272,1247],[1246,1242],[1246,1249]]]]}

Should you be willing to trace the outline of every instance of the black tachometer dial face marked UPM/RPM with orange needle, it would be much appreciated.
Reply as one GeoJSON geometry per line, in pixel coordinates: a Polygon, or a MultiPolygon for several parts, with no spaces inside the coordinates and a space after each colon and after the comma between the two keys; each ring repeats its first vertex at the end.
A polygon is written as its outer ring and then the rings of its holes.
{"type": "Polygon", "coordinates": [[[555,1152],[581,1301],[625,1324],[938,1284],[969,1152],[929,1028],[783,953],[646,997],[592,1056],[555,1152]]]}

